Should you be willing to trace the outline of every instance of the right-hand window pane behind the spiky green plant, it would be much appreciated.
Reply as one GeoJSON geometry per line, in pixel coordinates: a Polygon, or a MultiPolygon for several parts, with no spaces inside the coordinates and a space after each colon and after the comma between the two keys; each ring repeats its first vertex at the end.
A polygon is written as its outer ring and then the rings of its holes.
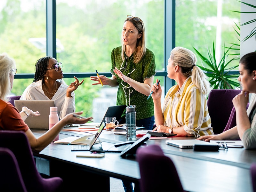
{"type": "MultiPolygon", "coordinates": [[[[207,48],[212,50],[215,44],[216,60],[220,60],[224,45],[240,44],[240,36],[236,33],[239,26],[240,2],[234,0],[176,0],[176,46],[186,47],[193,52],[195,47],[208,58],[207,48]],[[236,24],[235,24],[236,23],[236,24]]],[[[238,48],[234,46],[234,48],[238,48]]],[[[240,50],[230,50],[230,54],[240,50]]],[[[199,60],[198,55],[197,59],[199,60]]],[[[230,56],[230,59],[233,56],[230,56]]],[[[237,65],[237,60],[232,66],[237,65]]],[[[198,62],[201,63],[201,60],[198,62]]]]}

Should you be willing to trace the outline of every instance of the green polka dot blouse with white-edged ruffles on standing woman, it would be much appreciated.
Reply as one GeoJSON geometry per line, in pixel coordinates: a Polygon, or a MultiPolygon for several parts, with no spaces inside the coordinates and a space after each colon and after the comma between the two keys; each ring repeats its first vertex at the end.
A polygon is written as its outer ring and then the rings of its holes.
{"type": "MultiPolygon", "coordinates": [[[[133,54],[122,60],[122,46],[116,47],[111,52],[112,75],[115,75],[119,84],[117,90],[116,105],[136,105],[136,119],[145,119],[154,116],[154,103],[152,97],[148,100],[148,96],[136,91],[128,83],[121,80],[113,71],[118,68],[125,76],[132,78],[135,81],[143,83],[146,78],[151,78],[156,75],[155,55],[152,51],[146,48],[146,53],[139,63],[133,63],[133,54]]],[[[125,118],[125,112],[122,115],[125,118]]]]}

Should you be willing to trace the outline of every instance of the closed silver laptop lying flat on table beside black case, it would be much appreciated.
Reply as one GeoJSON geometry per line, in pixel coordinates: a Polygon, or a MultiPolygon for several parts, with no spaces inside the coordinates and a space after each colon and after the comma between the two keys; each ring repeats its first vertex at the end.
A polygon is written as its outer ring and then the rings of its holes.
{"type": "Polygon", "coordinates": [[[178,148],[193,148],[196,145],[215,145],[202,140],[187,139],[187,140],[167,140],[165,144],[178,148]]]}

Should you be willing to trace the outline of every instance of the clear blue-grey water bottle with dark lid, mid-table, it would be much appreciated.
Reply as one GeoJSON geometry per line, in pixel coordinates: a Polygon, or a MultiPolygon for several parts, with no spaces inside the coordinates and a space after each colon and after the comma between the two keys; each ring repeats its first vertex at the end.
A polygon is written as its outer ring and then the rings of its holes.
{"type": "Polygon", "coordinates": [[[125,119],[126,119],[126,139],[136,139],[136,111],[135,105],[126,107],[125,119]]]}

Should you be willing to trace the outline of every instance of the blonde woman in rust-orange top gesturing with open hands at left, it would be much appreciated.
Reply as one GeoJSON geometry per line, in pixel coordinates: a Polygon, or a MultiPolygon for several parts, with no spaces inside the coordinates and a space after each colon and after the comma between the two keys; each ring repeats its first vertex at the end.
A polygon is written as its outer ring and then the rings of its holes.
{"type": "MultiPolygon", "coordinates": [[[[14,75],[16,74],[16,64],[14,59],[10,58],[6,53],[0,54],[0,130],[23,131],[28,137],[29,144],[34,152],[40,152],[47,147],[52,140],[59,134],[62,128],[68,124],[84,124],[92,119],[92,117],[79,119],[73,116],[73,113],[63,117],[50,130],[40,137],[36,137],[24,122],[28,116],[39,116],[37,112],[33,112],[28,108],[22,108],[19,113],[7,100],[7,95],[12,90],[14,75]],[[12,123],[10,123],[12,122],[12,123]]],[[[81,115],[83,112],[77,112],[81,115]]]]}

